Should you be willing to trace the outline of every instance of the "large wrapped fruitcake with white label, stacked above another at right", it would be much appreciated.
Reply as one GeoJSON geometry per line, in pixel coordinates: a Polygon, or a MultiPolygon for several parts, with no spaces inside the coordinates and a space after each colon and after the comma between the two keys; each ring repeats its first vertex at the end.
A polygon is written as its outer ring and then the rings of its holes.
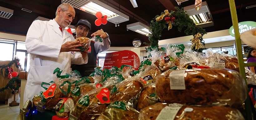
{"type": "Polygon", "coordinates": [[[241,75],[228,69],[169,70],[156,78],[161,102],[241,105],[246,98],[241,75]]]}

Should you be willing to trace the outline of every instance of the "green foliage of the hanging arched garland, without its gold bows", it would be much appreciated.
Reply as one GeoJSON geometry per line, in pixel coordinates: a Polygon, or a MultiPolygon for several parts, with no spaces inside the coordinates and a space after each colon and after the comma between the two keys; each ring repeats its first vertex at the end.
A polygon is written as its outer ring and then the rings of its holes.
{"type": "MultiPolygon", "coordinates": [[[[190,17],[186,14],[186,12],[183,10],[183,8],[175,7],[176,11],[171,11],[171,16],[169,17],[175,17],[175,19],[172,21],[173,26],[178,27],[178,31],[184,31],[186,35],[196,35],[197,33],[200,33],[202,36],[204,34],[207,34],[207,32],[202,29],[201,27],[197,27],[193,20],[190,19],[190,17]]],[[[164,14],[162,12],[161,14],[164,14]]],[[[155,18],[159,17],[159,15],[156,15],[155,18]]],[[[165,19],[161,21],[156,21],[155,18],[151,20],[150,22],[150,32],[151,34],[149,35],[149,41],[150,41],[150,46],[152,47],[157,47],[158,48],[158,41],[160,40],[160,35],[163,31],[163,29],[166,29],[166,22],[165,19]]],[[[204,45],[203,37],[199,37],[199,40],[202,45],[204,45]]],[[[191,40],[190,40],[191,41],[191,40]]],[[[149,45],[148,43],[145,43],[146,45],[149,45]]],[[[150,47],[149,47],[150,49],[150,47]]],[[[202,48],[199,50],[195,50],[192,48],[194,51],[199,51],[202,52],[202,48]]]]}

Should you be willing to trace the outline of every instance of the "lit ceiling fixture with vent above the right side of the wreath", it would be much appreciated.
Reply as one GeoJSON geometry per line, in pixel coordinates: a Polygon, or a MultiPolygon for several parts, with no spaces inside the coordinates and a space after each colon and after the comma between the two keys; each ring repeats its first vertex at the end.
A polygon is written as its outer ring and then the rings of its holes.
{"type": "Polygon", "coordinates": [[[213,18],[206,1],[202,2],[202,6],[199,11],[195,9],[194,5],[184,7],[184,11],[186,11],[187,15],[189,15],[189,17],[194,21],[196,26],[214,26],[213,18]]]}

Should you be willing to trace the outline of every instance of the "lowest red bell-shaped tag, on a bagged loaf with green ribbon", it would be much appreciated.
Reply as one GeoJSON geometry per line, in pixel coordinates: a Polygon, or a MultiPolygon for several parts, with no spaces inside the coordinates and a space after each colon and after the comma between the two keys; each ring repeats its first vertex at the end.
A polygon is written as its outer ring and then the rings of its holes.
{"type": "Polygon", "coordinates": [[[109,99],[110,91],[107,88],[101,89],[101,92],[96,95],[96,98],[100,100],[101,104],[110,103],[109,99]]]}

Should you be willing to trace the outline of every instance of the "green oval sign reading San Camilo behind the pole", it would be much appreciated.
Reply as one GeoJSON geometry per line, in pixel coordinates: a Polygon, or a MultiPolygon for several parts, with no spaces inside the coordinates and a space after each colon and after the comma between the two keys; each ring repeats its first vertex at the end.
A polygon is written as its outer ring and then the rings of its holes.
{"type": "MultiPolygon", "coordinates": [[[[239,33],[242,34],[245,31],[249,31],[251,29],[256,28],[256,22],[253,22],[253,21],[239,22],[238,28],[239,28],[239,33]]],[[[234,26],[231,26],[229,28],[229,34],[233,37],[235,36],[234,26]]]]}

